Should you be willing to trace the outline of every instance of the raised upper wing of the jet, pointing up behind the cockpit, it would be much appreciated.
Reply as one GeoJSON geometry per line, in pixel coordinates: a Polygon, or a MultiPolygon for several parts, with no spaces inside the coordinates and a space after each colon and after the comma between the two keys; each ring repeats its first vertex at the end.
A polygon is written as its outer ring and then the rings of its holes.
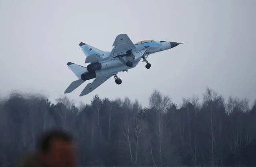
{"type": "Polygon", "coordinates": [[[135,49],[136,46],[131,42],[127,34],[119,34],[113,43],[113,50],[110,56],[117,56],[119,53],[126,52],[128,50],[135,49]]]}

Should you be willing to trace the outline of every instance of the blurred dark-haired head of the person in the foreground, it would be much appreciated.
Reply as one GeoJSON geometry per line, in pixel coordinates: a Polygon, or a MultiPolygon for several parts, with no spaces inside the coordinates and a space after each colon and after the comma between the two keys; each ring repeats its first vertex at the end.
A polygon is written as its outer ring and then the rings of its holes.
{"type": "Polygon", "coordinates": [[[71,135],[52,130],[38,141],[39,157],[47,167],[75,167],[76,149],[71,135]]]}

